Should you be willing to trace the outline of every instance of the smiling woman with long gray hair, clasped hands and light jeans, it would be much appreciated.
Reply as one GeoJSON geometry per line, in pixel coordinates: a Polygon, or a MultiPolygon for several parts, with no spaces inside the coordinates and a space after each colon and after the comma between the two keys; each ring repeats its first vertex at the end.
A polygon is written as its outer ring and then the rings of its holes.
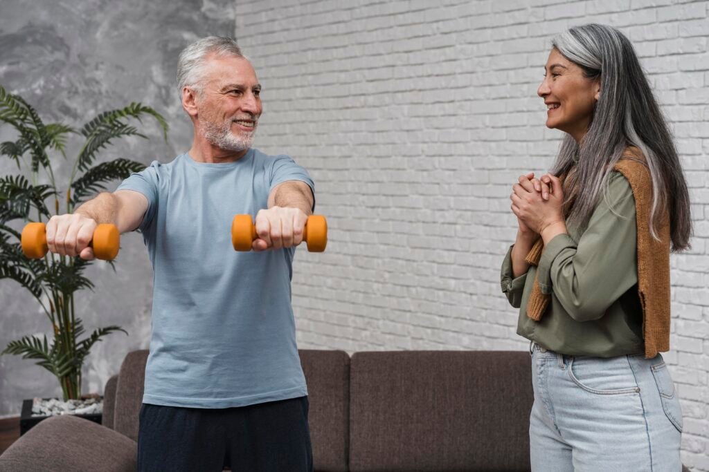
{"type": "Polygon", "coordinates": [[[630,42],[583,25],[552,41],[537,91],[565,132],[552,171],[513,186],[502,289],[531,341],[532,471],[680,471],[669,253],[688,248],[686,182],[630,42]]]}

